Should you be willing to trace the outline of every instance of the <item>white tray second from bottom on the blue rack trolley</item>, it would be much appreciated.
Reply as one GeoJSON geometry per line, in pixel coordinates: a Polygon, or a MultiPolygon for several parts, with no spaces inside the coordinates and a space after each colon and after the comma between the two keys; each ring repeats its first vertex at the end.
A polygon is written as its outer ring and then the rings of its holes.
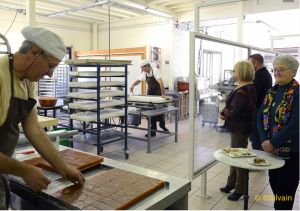
{"type": "MultiPolygon", "coordinates": [[[[123,100],[101,100],[100,101],[100,108],[107,108],[113,106],[124,106],[124,101],[123,100]]],[[[97,110],[97,102],[80,101],[75,103],[69,103],[69,108],[95,111],[97,110]]]]}

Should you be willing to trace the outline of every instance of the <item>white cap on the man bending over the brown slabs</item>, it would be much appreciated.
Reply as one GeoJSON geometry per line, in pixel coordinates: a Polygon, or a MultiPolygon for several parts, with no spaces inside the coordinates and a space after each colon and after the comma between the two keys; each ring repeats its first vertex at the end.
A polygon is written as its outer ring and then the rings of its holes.
{"type": "Polygon", "coordinates": [[[48,29],[37,26],[26,26],[22,29],[24,38],[38,47],[43,49],[46,53],[62,60],[66,54],[66,46],[57,34],[48,29]]]}

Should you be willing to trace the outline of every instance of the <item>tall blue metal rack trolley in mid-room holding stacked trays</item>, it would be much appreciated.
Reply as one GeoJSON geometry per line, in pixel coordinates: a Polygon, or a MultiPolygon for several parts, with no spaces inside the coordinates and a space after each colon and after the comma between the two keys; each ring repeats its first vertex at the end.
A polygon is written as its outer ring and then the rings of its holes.
{"type": "MultiPolygon", "coordinates": [[[[91,109],[89,111],[93,111],[96,112],[96,119],[93,121],[88,121],[90,123],[96,123],[97,124],[97,128],[95,129],[87,129],[86,128],[86,122],[84,121],[83,124],[83,129],[81,128],[76,128],[77,130],[84,132],[84,133],[91,133],[91,134],[96,134],[97,136],[97,154],[100,155],[100,153],[103,151],[103,145],[105,144],[109,144],[112,142],[116,142],[116,141],[120,141],[120,140],[124,140],[124,154],[125,154],[125,158],[128,159],[129,155],[128,155],[128,144],[127,144],[127,114],[128,114],[128,107],[127,107],[127,72],[128,72],[128,65],[131,64],[131,61],[127,61],[127,60],[100,60],[100,59],[81,59],[81,60],[67,60],[66,61],[67,64],[71,65],[71,69],[73,69],[74,67],[95,67],[96,68],[96,74],[94,76],[74,76],[74,75],[70,75],[70,82],[72,82],[72,80],[74,78],[94,78],[96,79],[96,86],[95,87],[74,87],[74,86],[70,86],[69,84],[69,91],[72,91],[74,88],[79,88],[79,89],[96,89],[96,97],[95,98],[82,98],[82,97],[70,97],[70,103],[73,103],[73,99],[85,99],[85,100],[89,100],[89,101],[96,101],[96,106],[94,109],[91,109]],[[108,71],[101,71],[101,68],[111,68],[111,67],[119,67],[119,68],[124,68],[124,72],[123,74],[114,74],[112,76],[107,76],[107,75],[103,75],[103,72],[108,72],[108,71]],[[101,78],[103,77],[108,77],[108,78],[114,78],[114,77],[122,77],[124,78],[124,85],[112,85],[109,87],[120,87],[122,89],[124,89],[124,101],[123,101],[123,108],[124,108],[124,118],[125,121],[121,122],[121,124],[112,124],[108,121],[101,121],[100,118],[100,111],[101,111],[101,84],[104,83],[104,81],[101,81],[101,78]],[[112,128],[112,127],[118,127],[121,128],[121,133],[123,135],[116,137],[116,138],[111,138],[108,140],[102,140],[101,138],[101,131],[104,129],[108,129],[108,128],[112,128]],[[96,131],[95,131],[96,130],[96,131]]],[[[83,71],[84,72],[84,71],[83,71]]],[[[114,71],[111,71],[114,72],[114,71]]],[[[70,105],[70,104],[69,104],[70,105]]],[[[70,107],[70,106],[69,106],[70,107]]],[[[109,106],[110,107],[110,106],[109,106]]],[[[75,129],[74,124],[73,124],[73,119],[71,118],[71,115],[73,113],[76,113],[75,110],[85,110],[85,109],[70,109],[70,128],[75,129]]],[[[85,110],[86,111],[86,110],[85,110]]],[[[123,116],[123,115],[119,115],[119,116],[123,116]]]]}

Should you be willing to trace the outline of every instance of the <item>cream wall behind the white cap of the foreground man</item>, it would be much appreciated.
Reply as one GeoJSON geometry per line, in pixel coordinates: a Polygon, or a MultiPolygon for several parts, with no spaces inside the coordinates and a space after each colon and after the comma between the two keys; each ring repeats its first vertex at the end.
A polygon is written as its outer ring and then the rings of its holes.
{"type": "MultiPolygon", "coordinates": [[[[0,9],[0,14],[0,33],[4,34],[11,25],[16,13],[15,11],[0,9]]],[[[36,21],[37,26],[45,27],[60,35],[65,41],[65,44],[67,46],[73,46],[75,51],[91,49],[91,24],[40,16],[37,16],[36,21]]],[[[20,32],[25,26],[27,26],[25,15],[18,14],[11,29],[6,34],[12,52],[17,51],[24,40],[20,32]]]]}

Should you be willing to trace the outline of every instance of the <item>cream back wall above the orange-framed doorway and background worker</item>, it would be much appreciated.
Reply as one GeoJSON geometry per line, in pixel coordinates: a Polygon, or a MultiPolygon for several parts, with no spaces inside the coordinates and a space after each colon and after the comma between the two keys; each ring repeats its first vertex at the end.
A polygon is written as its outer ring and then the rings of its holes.
{"type": "MultiPolygon", "coordinates": [[[[173,22],[162,18],[145,18],[111,24],[110,48],[133,48],[147,46],[147,59],[150,60],[150,46],[161,48],[161,73],[165,87],[169,86],[172,74],[172,37],[173,22]]],[[[99,25],[99,49],[109,48],[109,31],[107,25],[99,25]]]]}

